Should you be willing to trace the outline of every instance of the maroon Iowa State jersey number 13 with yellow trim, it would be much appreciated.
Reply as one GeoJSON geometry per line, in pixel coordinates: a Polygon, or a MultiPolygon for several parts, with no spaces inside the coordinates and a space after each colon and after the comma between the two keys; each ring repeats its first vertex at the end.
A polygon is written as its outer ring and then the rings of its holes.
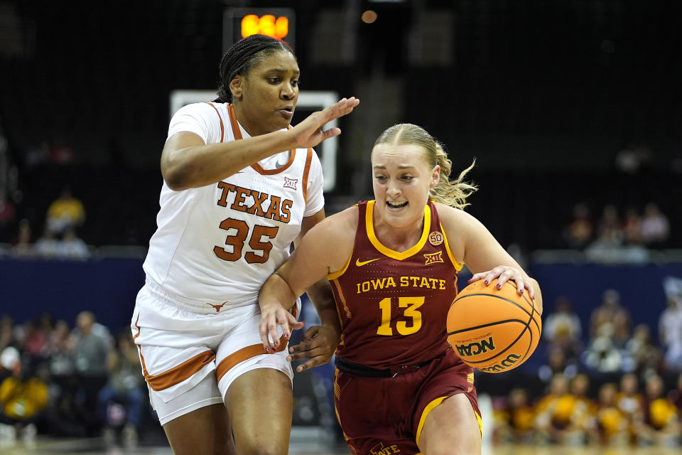
{"type": "Polygon", "coordinates": [[[357,205],[355,245],[328,276],[342,338],[336,355],[372,368],[418,365],[448,349],[445,321],[457,296],[455,261],[433,203],[416,245],[396,252],[374,235],[374,200],[357,205]]]}

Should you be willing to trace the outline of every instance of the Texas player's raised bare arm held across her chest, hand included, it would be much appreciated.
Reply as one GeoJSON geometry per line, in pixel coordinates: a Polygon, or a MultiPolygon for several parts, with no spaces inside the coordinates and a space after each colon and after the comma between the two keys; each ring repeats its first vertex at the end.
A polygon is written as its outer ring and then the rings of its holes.
{"type": "Polygon", "coordinates": [[[173,134],[161,152],[161,173],[168,188],[175,191],[207,186],[227,178],[251,164],[284,150],[308,148],[338,136],[341,130],[322,127],[352,112],[359,100],[343,98],[292,129],[278,130],[241,141],[206,144],[191,132],[173,134]]]}

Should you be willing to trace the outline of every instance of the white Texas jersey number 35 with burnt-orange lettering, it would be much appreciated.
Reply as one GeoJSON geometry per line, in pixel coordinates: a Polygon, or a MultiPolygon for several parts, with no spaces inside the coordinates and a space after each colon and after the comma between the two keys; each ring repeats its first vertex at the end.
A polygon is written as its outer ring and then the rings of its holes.
{"type": "MultiPolygon", "coordinates": [[[[168,137],[178,132],[206,144],[249,137],[223,103],[179,109],[168,137]]],[[[322,210],[322,166],[312,149],[284,151],[201,188],[173,191],[164,181],[160,205],[147,279],[196,304],[244,306],[289,256],[303,217],[322,210]]]]}

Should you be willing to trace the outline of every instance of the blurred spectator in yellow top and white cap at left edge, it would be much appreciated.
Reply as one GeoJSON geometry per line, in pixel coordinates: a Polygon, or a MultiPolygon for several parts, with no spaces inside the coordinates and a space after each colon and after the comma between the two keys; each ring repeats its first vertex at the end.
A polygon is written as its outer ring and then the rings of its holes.
{"type": "Polygon", "coordinates": [[[23,370],[13,346],[2,351],[0,364],[11,372],[0,384],[0,439],[11,442],[21,434],[25,444],[34,443],[38,413],[48,404],[48,385],[23,370]]]}

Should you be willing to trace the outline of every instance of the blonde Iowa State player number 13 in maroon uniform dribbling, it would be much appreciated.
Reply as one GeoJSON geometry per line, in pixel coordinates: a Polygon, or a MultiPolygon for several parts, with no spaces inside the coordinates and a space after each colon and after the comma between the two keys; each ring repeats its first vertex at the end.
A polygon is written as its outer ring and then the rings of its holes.
{"type": "Polygon", "coordinates": [[[290,357],[310,358],[301,371],[325,360],[320,339],[339,340],[335,405],[353,454],[480,454],[473,370],[445,331],[463,264],[470,282],[513,280],[542,308],[537,282],[461,210],[475,187],[462,181],[469,169],[450,181],[450,166],[421,127],[387,129],[372,149],[375,200],[315,225],[261,289],[259,331],[271,349],[277,326],[296,323],[296,297],[330,280],[340,326],[309,330],[290,357]]]}

